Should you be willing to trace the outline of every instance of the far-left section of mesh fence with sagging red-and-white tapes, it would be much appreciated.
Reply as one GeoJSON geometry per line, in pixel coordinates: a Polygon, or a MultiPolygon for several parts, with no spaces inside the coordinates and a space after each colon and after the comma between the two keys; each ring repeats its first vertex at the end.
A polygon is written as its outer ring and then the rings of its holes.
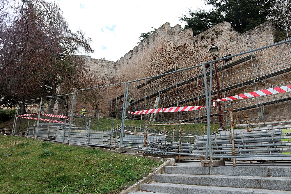
{"type": "Polygon", "coordinates": [[[53,140],[53,131],[64,126],[69,118],[72,96],[56,95],[18,102],[12,134],[53,140]]]}

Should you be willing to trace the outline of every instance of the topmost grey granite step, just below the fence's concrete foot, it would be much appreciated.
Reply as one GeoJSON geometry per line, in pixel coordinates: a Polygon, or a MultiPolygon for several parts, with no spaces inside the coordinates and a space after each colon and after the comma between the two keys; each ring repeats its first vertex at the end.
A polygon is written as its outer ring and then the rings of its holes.
{"type": "Polygon", "coordinates": [[[194,175],[236,175],[236,176],[261,176],[261,177],[291,177],[290,164],[280,165],[240,165],[201,167],[199,165],[167,166],[165,172],[168,174],[194,174],[194,175]]]}

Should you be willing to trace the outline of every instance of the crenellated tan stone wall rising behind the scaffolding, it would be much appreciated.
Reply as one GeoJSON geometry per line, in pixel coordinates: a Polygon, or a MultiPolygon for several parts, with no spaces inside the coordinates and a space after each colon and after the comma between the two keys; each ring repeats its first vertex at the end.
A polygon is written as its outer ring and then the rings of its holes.
{"type": "MultiPolygon", "coordinates": [[[[193,36],[191,29],[182,31],[180,25],[171,27],[169,23],[165,23],[157,29],[155,33],[152,33],[148,39],[145,39],[143,42],[139,43],[137,47],[134,47],[117,62],[88,59],[87,63],[89,63],[92,68],[95,68],[98,73],[102,72],[102,74],[118,76],[121,77],[123,81],[132,81],[162,74],[173,67],[185,68],[210,61],[212,60],[212,56],[210,56],[208,49],[211,44],[215,44],[219,47],[219,57],[226,54],[238,54],[246,50],[273,44],[274,32],[274,25],[270,22],[261,24],[243,34],[234,31],[231,28],[230,23],[221,22],[203,33],[193,36]]],[[[282,63],[280,62],[277,64],[278,61],[276,61],[278,55],[283,52],[285,51],[283,51],[282,47],[272,47],[264,51],[252,53],[251,59],[218,72],[218,77],[220,78],[219,87],[231,87],[237,83],[286,68],[289,65],[286,61],[288,61],[288,58],[290,59],[290,56],[282,56],[280,58],[280,60],[283,61],[282,63]]],[[[233,61],[240,60],[249,55],[250,54],[236,56],[233,58],[233,61]]],[[[217,63],[218,68],[223,65],[225,65],[223,62],[217,63]]],[[[178,75],[167,75],[159,80],[159,87],[161,85],[161,88],[166,88],[175,84],[173,82],[174,79],[176,79],[176,83],[180,83],[201,73],[201,67],[197,67],[187,72],[182,72],[178,75]],[[177,80],[177,77],[179,76],[181,79],[179,78],[179,80],[177,80]]],[[[207,81],[209,81],[209,78],[207,78],[207,81]]],[[[212,86],[214,88],[213,90],[215,90],[215,76],[212,81],[212,86]]],[[[276,79],[269,78],[265,81],[273,85],[282,84],[282,81],[287,83],[290,81],[289,73],[282,74],[276,79]]],[[[134,83],[134,86],[137,86],[142,82],[144,81],[134,83]]],[[[238,95],[241,93],[254,91],[256,89],[269,88],[270,84],[255,83],[247,86],[236,87],[234,89],[224,91],[223,94],[221,94],[221,97],[238,95]]],[[[130,88],[131,91],[129,95],[135,100],[141,99],[142,97],[145,97],[150,93],[157,92],[161,89],[157,87],[157,83],[156,86],[152,86],[150,89],[141,88],[135,90],[133,84],[130,85],[130,88]]],[[[189,82],[178,88],[165,91],[163,95],[166,97],[161,98],[160,106],[164,107],[173,103],[169,100],[171,98],[172,101],[175,99],[179,102],[182,101],[181,99],[191,98],[193,96],[200,95],[202,92],[204,92],[203,79],[198,79],[197,81],[189,82]]],[[[120,90],[120,94],[122,93],[123,92],[120,90]]],[[[128,109],[129,111],[137,111],[153,108],[156,97],[157,96],[147,98],[146,102],[145,100],[140,101],[135,104],[135,107],[131,106],[128,109]]],[[[217,95],[214,94],[212,98],[217,99],[217,95]]],[[[268,99],[265,101],[267,100],[268,99]]],[[[242,106],[249,106],[250,103],[256,102],[249,101],[241,104],[228,104],[227,107],[231,106],[232,108],[239,108],[242,106]]],[[[205,99],[201,98],[199,100],[193,100],[178,105],[205,105],[205,99]]],[[[224,107],[224,110],[226,110],[226,107],[224,107]]],[[[214,114],[217,112],[218,111],[216,109],[212,109],[211,113],[214,114]]],[[[277,114],[278,111],[274,110],[274,112],[277,114]]],[[[255,115],[258,114],[258,111],[257,109],[249,109],[248,113],[249,115],[254,115],[255,117],[255,115]]],[[[185,114],[185,117],[183,118],[184,120],[193,118],[193,115],[187,114],[185,114]]],[[[198,113],[198,115],[205,115],[205,113],[198,113]]]]}

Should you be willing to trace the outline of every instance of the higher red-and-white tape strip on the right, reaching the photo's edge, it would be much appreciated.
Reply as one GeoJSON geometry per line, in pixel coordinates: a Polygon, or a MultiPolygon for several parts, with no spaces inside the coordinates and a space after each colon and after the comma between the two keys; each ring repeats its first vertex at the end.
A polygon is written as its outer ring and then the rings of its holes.
{"type": "Polygon", "coordinates": [[[275,88],[267,88],[267,89],[263,89],[263,90],[257,90],[254,92],[248,92],[248,93],[244,93],[244,94],[239,94],[239,95],[235,95],[235,96],[230,96],[230,97],[226,97],[226,98],[213,100],[213,106],[215,107],[216,106],[215,102],[218,102],[218,101],[228,101],[228,100],[253,98],[253,97],[260,97],[260,96],[266,96],[266,95],[271,95],[271,94],[279,94],[279,93],[284,93],[284,92],[291,92],[291,85],[280,86],[280,87],[275,87],[275,88]]]}

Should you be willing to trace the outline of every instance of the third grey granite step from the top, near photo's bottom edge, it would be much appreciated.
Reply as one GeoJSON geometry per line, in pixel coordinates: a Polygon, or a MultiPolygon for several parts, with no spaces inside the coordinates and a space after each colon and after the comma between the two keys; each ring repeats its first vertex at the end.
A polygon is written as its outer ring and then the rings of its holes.
{"type": "MultiPolygon", "coordinates": [[[[256,188],[231,188],[219,186],[201,186],[187,184],[149,183],[142,184],[141,189],[147,192],[164,192],[171,194],[283,194],[289,191],[256,189],[256,188]]],[[[143,193],[140,193],[143,194],[143,193]]]]}

